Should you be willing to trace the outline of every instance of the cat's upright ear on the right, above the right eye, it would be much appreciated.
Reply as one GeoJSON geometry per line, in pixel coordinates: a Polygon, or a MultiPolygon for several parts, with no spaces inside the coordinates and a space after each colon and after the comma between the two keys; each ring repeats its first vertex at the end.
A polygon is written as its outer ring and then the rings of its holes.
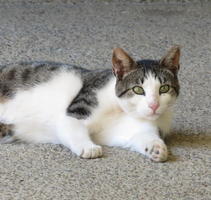
{"type": "Polygon", "coordinates": [[[173,46],[165,56],[163,56],[160,60],[160,64],[163,67],[166,67],[173,71],[174,73],[177,73],[179,70],[179,59],[180,59],[180,47],[179,46],[173,46]]]}

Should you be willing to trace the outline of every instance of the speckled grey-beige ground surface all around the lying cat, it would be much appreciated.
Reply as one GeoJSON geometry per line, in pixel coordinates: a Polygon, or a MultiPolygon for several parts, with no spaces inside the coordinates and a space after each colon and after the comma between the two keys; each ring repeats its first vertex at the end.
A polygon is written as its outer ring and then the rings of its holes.
{"type": "Polygon", "coordinates": [[[0,0],[1,64],[52,60],[103,68],[111,67],[115,46],[137,59],[182,46],[168,162],[120,148],[82,160],[59,145],[1,145],[1,200],[211,199],[211,4],[160,2],[0,0]]]}

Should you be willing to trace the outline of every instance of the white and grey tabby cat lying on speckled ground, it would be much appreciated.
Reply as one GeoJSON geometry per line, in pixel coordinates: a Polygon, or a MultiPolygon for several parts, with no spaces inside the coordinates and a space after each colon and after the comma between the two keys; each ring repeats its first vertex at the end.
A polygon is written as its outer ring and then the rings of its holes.
{"type": "Polygon", "coordinates": [[[179,95],[180,48],[160,60],[134,59],[115,48],[112,69],[88,70],[54,62],[0,68],[0,143],[22,140],[63,144],[82,158],[102,146],[167,160],[169,133],[179,95]]]}

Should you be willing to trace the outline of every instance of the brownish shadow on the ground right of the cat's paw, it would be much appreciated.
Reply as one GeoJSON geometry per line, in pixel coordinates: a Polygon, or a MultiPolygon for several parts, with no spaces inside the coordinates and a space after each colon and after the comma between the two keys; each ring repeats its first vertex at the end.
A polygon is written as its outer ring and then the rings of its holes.
{"type": "Polygon", "coordinates": [[[179,156],[172,153],[174,148],[190,148],[190,149],[211,149],[211,135],[204,133],[194,133],[193,131],[177,131],[168,135],[165,138],[165,142],[169,149],[169,160],[170,162],[177,161],[179,156]]]}

